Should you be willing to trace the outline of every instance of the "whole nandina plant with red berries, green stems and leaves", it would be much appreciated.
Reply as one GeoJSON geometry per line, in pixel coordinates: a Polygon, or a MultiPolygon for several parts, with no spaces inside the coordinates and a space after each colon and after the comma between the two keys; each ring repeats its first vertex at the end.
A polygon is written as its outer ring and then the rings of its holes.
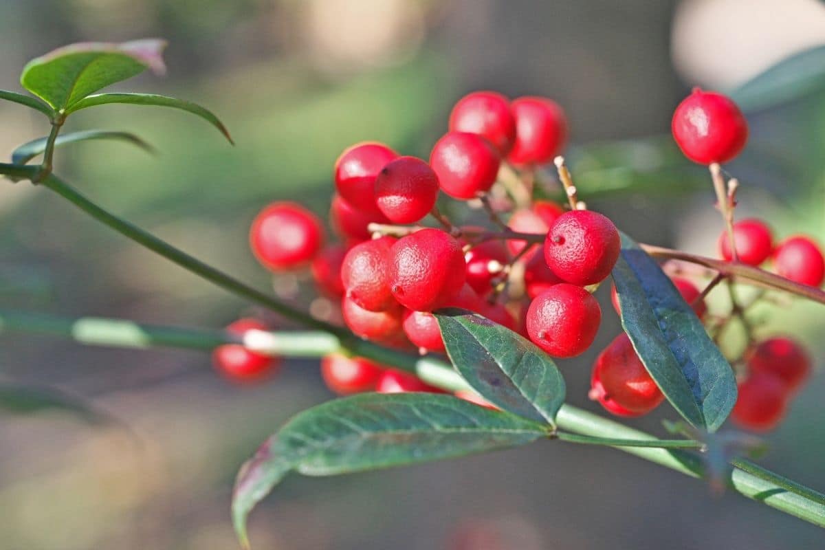
{"type": "MultiPolygon", "coordinates": [[[[299,412],[243,465],[232,502],[243,546],[249,545],[247,515],[290,472],[336,475],[537,440],[614,447],[825,526],[823,494],[750,462],[752,437],[719,432],[728,417],[744,430],[770,430],[811,371],[804,346],[790,336],[759,334],[748,308],[769,291],[825,303],[819,288],[825,261],[816,242],[798,235],[776,244],[765,221],[734,219],[738,181],[726,178],[719,162],[741,152],[748,128],[730,98],[696,89],[672,122],[686,157],[709,167],[722,214],[721,259],[635,242],[588,209],[559,156],[567,121],[548,98],[465,96],[428,162],[383,143],[347,148],[330,167],[337,242],[294,202],[264,206],[250,228],[252,253],[263,268],[311,269],[318,292],[340,300],[346,325],[340,326],[196,260],[54,174],[55,149],[70,143],[120,139],[148,148],[126,132],[61,132],[69,115],[89,107],[186,110],[231,141],[209,110],[189,101],[97,93],[147,68],[163,72],[163,46],[159,40],[71,45],[27,64],[21,84],[31,95],[0,91],[0,98],[40,111],[51,130],[16,148],[12,162],[0,163],[0,174],[53,191],[150,251],[308,330],[272,331],[256,318],[210,330],[9,310],[0,312],[0,321],[5,330],[84,344],[211,350],[219,373],[243,383],[275,374],[286,356],[322,358],[323,380],[349,397],[299,412]],[[32,163],[40,155],[40,163],[32,163]],[[551,160],[555,181],[543,170],[551,160]],[[775,273],[760,267],[771,258],[775,273]],[[685,264],[706,270],[686,278],[685,264]],[[592,345],[602,317],[592,293],[608,279],[624,331],[593,365],[589,395],[620,418],[669,403],[672,416],[680,417],[666,425],[675,439],[565,403],[554,358],[592,345]],[[737,294],[745,285],[761,289],[748,303],[737,294]],[[709,317],[705,299],[720,288],[732,306],[709,317]],[[747,349],[738,357],[717,346],[732,321],[747,331],[747,349]]],[[[0,393],[6,405],[28,397],[13,388],[0,393]]],[[[34,402],[80,407],[45,394],[34,402]]]]}

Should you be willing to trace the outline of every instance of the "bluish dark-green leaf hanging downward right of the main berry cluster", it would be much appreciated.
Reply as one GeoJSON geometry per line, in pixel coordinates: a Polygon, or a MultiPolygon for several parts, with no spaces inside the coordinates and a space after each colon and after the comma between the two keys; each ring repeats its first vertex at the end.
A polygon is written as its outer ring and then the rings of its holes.
{"type": "Polygon", "coordinates": [[[699,317],[656,261],[624,233],[613,280],[622,327],[648,373],[686,421],[717,430],[736,402],[736,378],[699,317]]]}

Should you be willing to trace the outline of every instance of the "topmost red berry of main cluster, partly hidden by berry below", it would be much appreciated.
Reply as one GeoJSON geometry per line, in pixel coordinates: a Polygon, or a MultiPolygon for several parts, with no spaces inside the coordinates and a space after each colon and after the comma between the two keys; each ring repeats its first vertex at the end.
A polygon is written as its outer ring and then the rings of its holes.
{"type": "Polygon", "coordinates": [[[479,134],[506,155],[516,140],[510,101],[497,92],[473,92],[462,97],[450,113],[450,132],[479,134]]]}

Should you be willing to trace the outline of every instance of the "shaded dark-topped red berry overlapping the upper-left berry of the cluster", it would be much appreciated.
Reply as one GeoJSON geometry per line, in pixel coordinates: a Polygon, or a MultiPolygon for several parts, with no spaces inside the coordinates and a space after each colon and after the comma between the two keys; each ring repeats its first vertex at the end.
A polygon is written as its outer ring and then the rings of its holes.
{"type": "Polygon", "coordinates": [[[438,198],[438,176],[427,162],[398,157],[375,178],[375,204],[393,223],[416,223],[438,198]]]}

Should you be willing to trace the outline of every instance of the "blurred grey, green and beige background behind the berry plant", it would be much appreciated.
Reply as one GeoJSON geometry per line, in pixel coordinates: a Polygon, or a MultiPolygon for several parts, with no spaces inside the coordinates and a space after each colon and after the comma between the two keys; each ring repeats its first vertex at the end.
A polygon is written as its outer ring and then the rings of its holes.
{"type": "MultiPolygon", "coordinates": [[[[825,242],[825,4],[814,0],[0,0],[0,88],[28,59],[82,40],[169,40],[167,78],[120,89],[198,101],[229,147],[177,111],[106,106],[68,130],[130,129],[120,143],[58,153],[58,172],[125,219],[266,288],[247,247],[264,204],[298,198],[325,214],[332,163],[363,139],[427,157],[464,93],[553,97],[572,128],[580,195],[639,241],[714,255],[709,178],[675,150],[672,110],[694,85],[736,96],[751,142],[728,169],[741,214],[825,242]],[[787,56],[792,63],[762,72],[787,56]],[[757,78],[756,80],[751,80],[757,78]],[[750,81],[750,82],[749,82],[750,81]],[[743,84],[747,83],[744,87],[743,84]]],[[[48,132],[0,103],[0,153],[48,132]]],[[[740,215],[741,215],[740,214],[740,215]]],[[[0,186],[0,303],[70,316],[222,327],[247,306],[102,228],[59,197],[0,186]]],[[[309,284],[309,281],[304,281],[309,284]]],[[[620,330],[561,362],[570,401],[620,330]]],[[[308,303],[309,298],[299,296],[308,303]]],[[[724,308],[724,303],[711,304],[724,308]]],[[[721,309],[720,309],[721,310],[721,309]]],[[[825,356],[822,308],[758,312],[825,356]]],[[[732,346],[736,345],[735,338],[732,346]]],[[[763,463],[825,488],[823,361],[768,436],[763,463]]],[[[288,417],[331,397],[316,361],[255,388],[205,354],[82,348],[0,337],[0,382],[82,397],[128,430],[73,416],[0,416],[0,548],[236,548],[229,492],[240,463],[288,417]]],[[[662,434],[668,407],[633,421],[662,434]]],[[[257,548],[820,548],[820,529],[610,449],[539,444],[416,468],[290,477],[252,515],[257,548]]]]}

